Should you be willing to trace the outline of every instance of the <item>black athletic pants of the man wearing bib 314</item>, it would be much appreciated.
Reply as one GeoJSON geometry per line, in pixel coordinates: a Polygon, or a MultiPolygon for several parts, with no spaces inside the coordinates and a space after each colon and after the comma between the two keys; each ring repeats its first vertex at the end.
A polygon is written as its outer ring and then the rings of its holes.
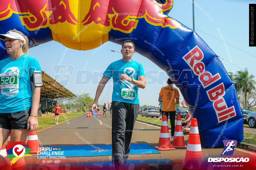
{"type": "Polygon", "coordinates": [[[112,101],[112,107],[112,163],[115,169],[125,169],[139,104],[112,101]]]}

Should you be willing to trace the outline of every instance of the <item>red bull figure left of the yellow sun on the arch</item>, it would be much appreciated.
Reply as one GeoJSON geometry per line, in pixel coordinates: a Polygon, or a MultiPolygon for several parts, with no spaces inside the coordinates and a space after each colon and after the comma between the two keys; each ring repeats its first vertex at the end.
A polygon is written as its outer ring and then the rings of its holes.
{"type": "Polygon", "coordinates": [[[73,25],[78,22],[67,0],[51,1],[50,6],[48,1],[37,1],[35,4],[32,0],[23,4],[16,4],[16,1],[1,1],[1,5],[0,20],[11,17],[13,13],[19,14],[21,22],[28,30],[35,30],[39,26],[46,28],[49,24],[54,25],[65,21],[73,25]]]}

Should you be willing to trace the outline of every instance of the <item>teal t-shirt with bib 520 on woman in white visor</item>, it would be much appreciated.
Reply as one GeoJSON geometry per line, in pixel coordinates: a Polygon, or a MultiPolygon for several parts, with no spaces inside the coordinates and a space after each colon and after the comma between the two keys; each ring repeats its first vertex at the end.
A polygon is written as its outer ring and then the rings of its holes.
{"type": "Polygon", "coordinates": [[[22,55],[0,61],[0,113],[23,111],[32,106],[30,74],[41,71],[35,57],[22,55]]]}

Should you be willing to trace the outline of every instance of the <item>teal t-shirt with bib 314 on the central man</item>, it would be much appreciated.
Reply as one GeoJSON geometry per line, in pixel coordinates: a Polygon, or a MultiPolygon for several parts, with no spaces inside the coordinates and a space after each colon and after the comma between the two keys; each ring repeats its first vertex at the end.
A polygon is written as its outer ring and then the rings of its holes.
{"type": "Polygon", "coordinates": [[[139,104],[138,87],[127,80],[121,81],[121,74],[126,74],[134,80],[138,80],[139,76],[145,76],[142,64],[134,60],[126,62],[121,59],[112,62],[103,73],[106,78],[113,78],[112,101],[139,104]]]}

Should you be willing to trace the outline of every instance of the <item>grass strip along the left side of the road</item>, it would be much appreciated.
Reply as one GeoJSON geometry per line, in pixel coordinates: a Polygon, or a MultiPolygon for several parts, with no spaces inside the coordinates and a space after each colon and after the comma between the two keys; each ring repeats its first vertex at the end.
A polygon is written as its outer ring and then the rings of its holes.
{"type": "MultiPolygon", "coordinates": [[[[60,114],[59,115],[59,120],[58,123],[64,122],[66,120],[75,118],[77,116],[82,115],[83,112],[69,112],[69,113],[65,113],[65,116],[67,119],[64,118],[64,114],[60,114]]],[[[46,128],[48,126],[54,125],[54,119],[55,119],[55,115],[54,114],[46,114],[45,116],[42,117],[38,117],[38,129],[43,129],[46,128]]]]}

